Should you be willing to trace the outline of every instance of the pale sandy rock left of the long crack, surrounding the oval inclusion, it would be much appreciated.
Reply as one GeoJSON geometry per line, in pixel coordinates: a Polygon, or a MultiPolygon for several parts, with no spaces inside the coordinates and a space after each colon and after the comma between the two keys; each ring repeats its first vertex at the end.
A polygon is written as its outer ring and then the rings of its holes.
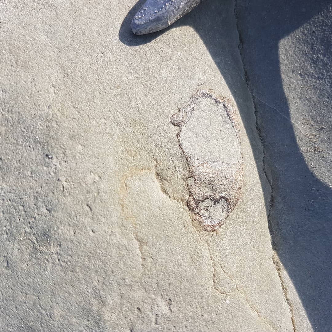
{"type": "Polygon", "coordinates": [[[292,331],[233,2],[205,4],[137,39],[135,1],[1,3],[1,331],[292,331]],[[241,196],[213,233],[169,121],[198,87],[241,110],[241,196]]]}

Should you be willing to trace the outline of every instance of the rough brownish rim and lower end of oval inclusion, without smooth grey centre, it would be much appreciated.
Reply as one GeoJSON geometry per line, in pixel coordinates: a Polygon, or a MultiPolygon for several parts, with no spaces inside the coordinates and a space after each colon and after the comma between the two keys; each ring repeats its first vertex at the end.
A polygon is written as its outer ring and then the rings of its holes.
{"type": "MultiPolygon", "coordinates": [[[[212,90],[199,89],[190,98],[188,104],[179,108],[178,113],[172,115],[170,121],[179,126],[178,142],[189,166],[187,185],[189,198],[187,206],[193,220],[197,220],[207,232],[217,230],[224,224],[225,219],[236,206],[242,185],[242,151],[235,163],[219,160],[199,161],[199,156],[189,154],[181,142],[182,128],[190,121],[195,105],[200,98],[210,98],[221,105],[235,130],[239,144],[240,129],[235,107],[229,99],[217,96],[212,90]]],[[[207,128],[208,134],[208,128],[207,128]]]]}

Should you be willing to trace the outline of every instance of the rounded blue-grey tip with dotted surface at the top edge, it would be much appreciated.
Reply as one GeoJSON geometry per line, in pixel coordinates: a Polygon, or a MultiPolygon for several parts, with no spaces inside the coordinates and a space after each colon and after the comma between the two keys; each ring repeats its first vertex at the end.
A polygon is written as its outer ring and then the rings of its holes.
{"type": "Polygon", "coordinates": [[[202,0],[147,0],[131,22],[135,35],[167,28],[193,10],[202,0]]]}

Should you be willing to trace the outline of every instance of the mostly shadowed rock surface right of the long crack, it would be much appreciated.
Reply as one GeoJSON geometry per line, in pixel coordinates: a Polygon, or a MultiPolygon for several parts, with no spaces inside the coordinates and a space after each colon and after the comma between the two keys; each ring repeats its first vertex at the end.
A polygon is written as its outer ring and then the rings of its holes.
{"type": "Polygon", "coordinates": [[[329,332],[332,3],[239,0],[236,19],[272,187],[275,263],[294,331],[329,332]]]}

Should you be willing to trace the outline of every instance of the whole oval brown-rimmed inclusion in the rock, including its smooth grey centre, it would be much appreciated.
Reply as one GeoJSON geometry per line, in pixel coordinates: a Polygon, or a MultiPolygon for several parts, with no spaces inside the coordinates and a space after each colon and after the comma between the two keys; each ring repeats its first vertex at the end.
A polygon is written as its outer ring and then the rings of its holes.
{"type": "Polygon", "coordinates": [[[235,108],[212,91],[198,90],[173,114],[188,161],[187,205],[208,232],[218,229],[239,200],[242,183],[240,130],[235,108]]]}

